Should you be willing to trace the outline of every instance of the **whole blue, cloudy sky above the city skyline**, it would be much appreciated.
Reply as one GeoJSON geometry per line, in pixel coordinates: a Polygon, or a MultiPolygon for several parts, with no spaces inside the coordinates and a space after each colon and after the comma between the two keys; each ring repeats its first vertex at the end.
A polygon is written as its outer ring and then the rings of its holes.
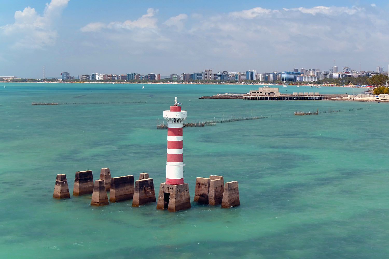
{"type": "Polygon", "coordinates": [[[0,76],[258,73],[389,63],[389,1],[4,0],[0,76]]]}

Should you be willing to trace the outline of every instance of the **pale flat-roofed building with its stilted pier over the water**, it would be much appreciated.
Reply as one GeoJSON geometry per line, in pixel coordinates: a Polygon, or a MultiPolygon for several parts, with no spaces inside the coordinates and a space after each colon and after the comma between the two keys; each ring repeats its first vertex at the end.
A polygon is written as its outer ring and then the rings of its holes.
{"type": "Polygon", "coordinates": [[[266,100],[266,101],[287,101],[287,100],[323,100],[324,94],[318,92],[293,92],[293,94],[281,94],[278,87],[259,87],[258,90],[250,90],[243,94],[244,100],[266,100]]]}

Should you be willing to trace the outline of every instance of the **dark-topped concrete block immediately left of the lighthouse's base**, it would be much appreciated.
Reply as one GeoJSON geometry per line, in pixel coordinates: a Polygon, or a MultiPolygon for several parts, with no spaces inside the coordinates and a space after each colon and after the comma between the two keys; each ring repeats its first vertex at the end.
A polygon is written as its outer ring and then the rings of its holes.
{"type": "Polygon", "coordinates": [[[135,181],[132,206],[138,207],[139,205],[145,204],[147,202],[156,202],[154,182],[152,178],[135,181]]]}

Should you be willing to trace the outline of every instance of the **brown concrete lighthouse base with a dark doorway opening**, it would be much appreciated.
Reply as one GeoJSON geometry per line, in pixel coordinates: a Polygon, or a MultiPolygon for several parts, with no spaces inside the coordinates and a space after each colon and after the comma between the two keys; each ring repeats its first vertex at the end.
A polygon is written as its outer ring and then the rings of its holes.
{"type": "Polygon", "coordinates": [[[168,209],[168,211],[179,211],[191,208],[189,197],[189,186],[183,184],[161,183],[159,186],[157,209],[168,209]]]}

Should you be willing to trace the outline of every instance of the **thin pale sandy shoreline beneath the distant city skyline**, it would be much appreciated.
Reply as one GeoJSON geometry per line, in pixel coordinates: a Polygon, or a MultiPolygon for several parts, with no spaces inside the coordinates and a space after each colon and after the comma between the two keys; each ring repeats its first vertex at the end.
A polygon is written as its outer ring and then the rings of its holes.
{"type": "MultiPolygon", "coordinates": [[[[285,84],[272,84],[272,83],[187,83],[187,82],[168,82],[168,83],[156,83],[156,82],[12,82],[12,81],[0,81],[0,83],[110,83],[110,84],[174,84],[174,85],[179,85],[179,84],[184,84],[184,85],[268,85],[268,86],[282,86],[285,84]]],[[[301,85],[301,86],[328,86],[328,87],[349,87],[349,88],[367,88],[371,89],[373,86],[366,86],[366,85],[327,85],[327,84],[303,84],[303,83],[294,83],[294,84],[287,84],[287,85],[301,85]]]]}

